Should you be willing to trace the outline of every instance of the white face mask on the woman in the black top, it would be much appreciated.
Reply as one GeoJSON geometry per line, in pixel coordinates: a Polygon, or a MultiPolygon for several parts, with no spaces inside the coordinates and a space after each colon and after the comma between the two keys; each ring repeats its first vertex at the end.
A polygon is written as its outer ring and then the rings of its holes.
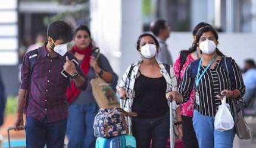
{"type": "Polygon", "coordinates": [[[141,54],[146,59],[151,59],[157,53],[157,47],[154,44],[145,44],[141,47],[141,54]]]}

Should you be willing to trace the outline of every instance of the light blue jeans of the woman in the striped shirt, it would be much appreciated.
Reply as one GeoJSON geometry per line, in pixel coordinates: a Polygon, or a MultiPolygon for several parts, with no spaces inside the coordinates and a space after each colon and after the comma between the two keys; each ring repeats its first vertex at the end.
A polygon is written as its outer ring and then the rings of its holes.
{"type": "Polygon", "coordinates": [[[214,118],[193,111],[193,127],[200,148],[232,148],[235,128],[228,131],[214,130],[214,118]]]}

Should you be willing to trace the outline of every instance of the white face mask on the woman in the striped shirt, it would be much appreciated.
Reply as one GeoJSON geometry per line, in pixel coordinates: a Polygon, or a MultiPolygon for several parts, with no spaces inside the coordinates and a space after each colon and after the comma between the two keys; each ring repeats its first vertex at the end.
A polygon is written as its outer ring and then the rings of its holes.
{"type": "Polygon", "coordinates": [[[216,50],[216,44],[214,41],[206,39],[199,44],[199,49],[205,54],[212,54],[216,50]]]}

